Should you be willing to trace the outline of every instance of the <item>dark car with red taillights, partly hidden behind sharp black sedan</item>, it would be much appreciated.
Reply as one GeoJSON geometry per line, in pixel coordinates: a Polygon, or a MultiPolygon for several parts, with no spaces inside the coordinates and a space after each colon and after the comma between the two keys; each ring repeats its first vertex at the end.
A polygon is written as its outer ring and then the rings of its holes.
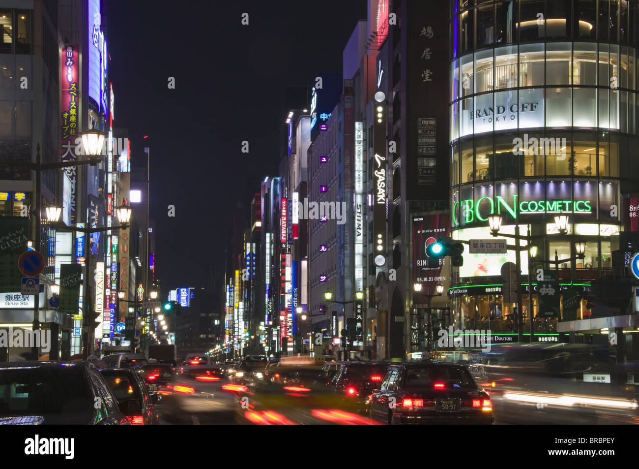
{"type": "Polygon", "coordinates": [[[344,362],[337,367],[329,386],[350,407],[363,410],[367,397],[380,386],[388,367],[389,363],[344,362]]]}

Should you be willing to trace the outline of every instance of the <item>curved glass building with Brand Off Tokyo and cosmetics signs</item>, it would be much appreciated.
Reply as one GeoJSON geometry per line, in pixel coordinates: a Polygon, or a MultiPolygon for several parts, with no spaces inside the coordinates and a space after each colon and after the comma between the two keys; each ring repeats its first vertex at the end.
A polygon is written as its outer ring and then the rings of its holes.
{"type": "Polygon", "coordinates": [[[452,0],[450,35],[452,237],[477,240],[453,273],[454,320],[514,332],[517,301],[504,297],[501,269],[516,251],[491,252],[502,249],[491,240],[506,239],[489,230],[499,214],[500,233],[530,229],[537,247],[530,264],[521,251],[525,331],[530,267],[534,327],[548,336],[537,340],[561,342],[558,322],[589,319],[587,281],[612,272],[624,195],[637,191],[639,3],[452,0]],[[566,233],[556,216],[568,217],[566,233]],[[540,303],[539,288],[557,274],[561,298],[540,303]],[[574,308],[564,310],[573,291],[574,308]]]}

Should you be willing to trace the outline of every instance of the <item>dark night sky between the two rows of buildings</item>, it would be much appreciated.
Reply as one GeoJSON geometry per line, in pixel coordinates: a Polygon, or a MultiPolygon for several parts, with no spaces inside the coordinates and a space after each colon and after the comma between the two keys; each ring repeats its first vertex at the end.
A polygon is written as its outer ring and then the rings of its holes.
{"type": "Polygon", "coordinates": [[[113,127],[128,129],[132,166],[146,164],[150,147],[163,293],[204,286],[210,261],[222,268],[233,207],[248,212],[261,180],[277,175],[284,86],[341,72],[366,14],[364,0],[110,0],[113,127]]]}

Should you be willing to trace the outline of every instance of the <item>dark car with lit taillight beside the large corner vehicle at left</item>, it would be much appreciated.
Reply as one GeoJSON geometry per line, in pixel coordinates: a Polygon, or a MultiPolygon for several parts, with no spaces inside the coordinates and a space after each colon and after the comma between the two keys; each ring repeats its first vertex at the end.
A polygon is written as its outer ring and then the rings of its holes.
{"type": "Polygon", "coordinates": [[[120,410],[132,425],[157,425],[159,423],[155,404],[160,400],[157,393],[149,393],[139,373],[131,369],[102,369],[100,374],[118,400],[120,410]]]}

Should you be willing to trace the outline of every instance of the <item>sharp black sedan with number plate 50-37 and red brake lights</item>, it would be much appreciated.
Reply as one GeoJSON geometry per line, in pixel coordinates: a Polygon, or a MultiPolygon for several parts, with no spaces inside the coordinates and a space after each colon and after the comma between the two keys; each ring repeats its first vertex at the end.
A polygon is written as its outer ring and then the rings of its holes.
{"type": "Polygon", "coordinates": [[[387,424],[492,424],[488,393],[462,365],[411,362],[390,365],[367,399],[369,415],[387,424]]]}

